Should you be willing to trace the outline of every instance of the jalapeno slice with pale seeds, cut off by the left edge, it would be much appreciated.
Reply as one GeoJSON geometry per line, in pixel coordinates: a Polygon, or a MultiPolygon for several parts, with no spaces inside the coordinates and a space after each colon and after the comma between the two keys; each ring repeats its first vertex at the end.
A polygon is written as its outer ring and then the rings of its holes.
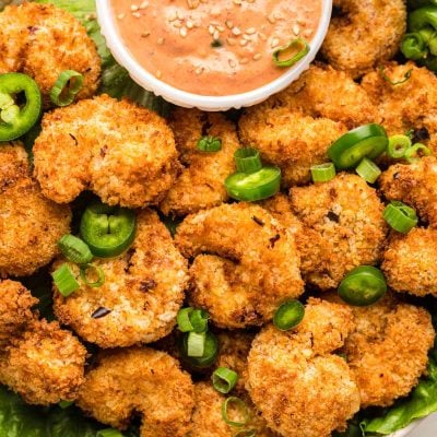
{"type": "Polygon", "coordinates": [[[38,121],[43,106],[36,82],[26,74],[0,74],[0,141],[24,135],[38,121]],[[22,102],[23,101],[23,102],[22,102]]]}

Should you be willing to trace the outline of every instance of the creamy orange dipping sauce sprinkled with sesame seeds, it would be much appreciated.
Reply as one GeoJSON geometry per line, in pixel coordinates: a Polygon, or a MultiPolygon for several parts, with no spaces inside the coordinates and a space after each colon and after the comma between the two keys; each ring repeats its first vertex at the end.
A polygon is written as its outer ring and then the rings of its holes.
{"type": "Polygon", "coordinates": [[[322,0],[110,0],[116,26],[141,66],[190,93],[224,96],[265,85],[287,69],[272,54],[310,43],[322,0]]]}

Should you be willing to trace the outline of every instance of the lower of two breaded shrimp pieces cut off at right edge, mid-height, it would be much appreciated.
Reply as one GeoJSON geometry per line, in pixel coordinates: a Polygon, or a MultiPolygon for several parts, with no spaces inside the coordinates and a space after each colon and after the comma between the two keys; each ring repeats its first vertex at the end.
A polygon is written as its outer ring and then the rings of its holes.
{"type": "Polygon", "coordinates": [[[392,290],[437,296],[436,260],[437,231],[416,227],[406,235],[391,235],[381,268],[392,290]]]}

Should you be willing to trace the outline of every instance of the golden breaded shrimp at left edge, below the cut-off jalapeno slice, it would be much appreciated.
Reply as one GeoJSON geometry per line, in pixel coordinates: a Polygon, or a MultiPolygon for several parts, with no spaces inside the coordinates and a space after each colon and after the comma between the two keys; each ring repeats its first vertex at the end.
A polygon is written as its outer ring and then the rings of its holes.
{"type": "Polygon", "coordinates": [[[70,221],[70,208],[46,199],[29,176],[24,147],[1,145],[0,277],[29,275],[48,264],[70,221]]]}

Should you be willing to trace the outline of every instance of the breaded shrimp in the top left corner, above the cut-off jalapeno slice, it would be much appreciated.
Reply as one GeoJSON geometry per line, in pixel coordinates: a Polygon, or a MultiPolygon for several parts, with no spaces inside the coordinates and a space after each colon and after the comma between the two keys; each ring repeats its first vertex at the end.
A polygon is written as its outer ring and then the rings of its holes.
{"type": "Polygon", "coordinates": [[[45,106],[59,74],[74,70],[83,75],[78,98],[91,97],[101,76],[101,58],[85,27],[52,4],[25,2],[0,13],[0,73],[23,72],[35,79],[45,106]]]}

